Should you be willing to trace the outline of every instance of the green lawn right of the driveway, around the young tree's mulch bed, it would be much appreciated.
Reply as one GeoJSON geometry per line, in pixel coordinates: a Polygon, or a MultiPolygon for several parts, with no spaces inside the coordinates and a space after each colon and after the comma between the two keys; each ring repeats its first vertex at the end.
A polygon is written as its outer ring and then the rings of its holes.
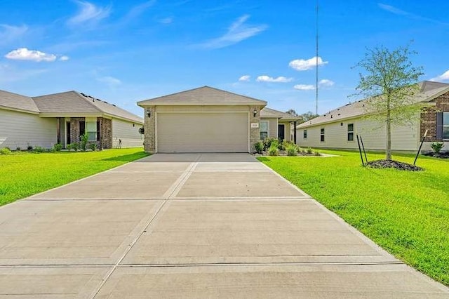
{"type": "Polygon", "coordinates": [[[342,157],[259,159],[389,253],[449,285],[449,161],[420,157],[425,171],[409,172],[364,168],[358,152],[323,152],[342,157]]]}

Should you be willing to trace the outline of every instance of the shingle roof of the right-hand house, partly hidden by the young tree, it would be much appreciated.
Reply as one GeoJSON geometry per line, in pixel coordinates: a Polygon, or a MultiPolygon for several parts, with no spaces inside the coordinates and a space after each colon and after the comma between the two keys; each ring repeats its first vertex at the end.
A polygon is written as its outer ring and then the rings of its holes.
{"type": "MultiPolygon", "coordinates": [[[[449,84],[433,81],[421,81],[418,83],[420,86],[420,92],[417,93],[413,101],[418,102],[430,102],[434,98],[449,92],[449,84]]],[[[341,121],[343,119],[351,119],[353,117],[360,117],[366,114],[365,103],[368,99],[352,102],[337,109],[330,110],[328,113],[320,115],[310,121],[306,121],[297,125],[297,128],[307,128],[309,126],[316,126],[319,124],[327,124],[335,121],[341,121]]]]}

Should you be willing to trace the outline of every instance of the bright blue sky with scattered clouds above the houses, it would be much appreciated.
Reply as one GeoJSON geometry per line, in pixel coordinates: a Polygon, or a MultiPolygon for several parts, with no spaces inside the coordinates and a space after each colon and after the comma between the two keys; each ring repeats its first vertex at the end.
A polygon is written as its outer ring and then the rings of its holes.
{"type": "MultiPolygon", "coordinates": [[[[313,1],[1,0],[0,89],[138,100],[213,86],[315,109],[313,1]]],[[[319,113],[346,104],[366,48],[405,46],[449,82],[449,1],[319,1],[319,113]]]]}

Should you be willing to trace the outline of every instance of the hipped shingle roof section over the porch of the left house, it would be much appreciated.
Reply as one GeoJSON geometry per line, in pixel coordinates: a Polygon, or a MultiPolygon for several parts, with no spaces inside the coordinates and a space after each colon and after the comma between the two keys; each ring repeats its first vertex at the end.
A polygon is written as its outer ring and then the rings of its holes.
{"type": "Polygon", "coordinates": [[[76,114],[79,116],[83,116],[83,114],[108,114],[112,117],[118,117],[140,124],[144,122],[141,117],[116,107],[116,105],[76,91],[41,95],[39,97],[33,97],[33,100],[39,111],[43,114],[67,114],[73,116],[76,116],[76,114]]]}

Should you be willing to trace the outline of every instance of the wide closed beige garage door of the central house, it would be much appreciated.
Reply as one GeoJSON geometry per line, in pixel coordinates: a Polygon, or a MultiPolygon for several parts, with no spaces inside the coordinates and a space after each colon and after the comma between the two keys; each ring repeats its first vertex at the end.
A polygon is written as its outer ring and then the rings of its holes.
{"type": "Polygon", "coordinates": [[[158,152],[248,152],[248,112],[157,114],[158,152]]]}

